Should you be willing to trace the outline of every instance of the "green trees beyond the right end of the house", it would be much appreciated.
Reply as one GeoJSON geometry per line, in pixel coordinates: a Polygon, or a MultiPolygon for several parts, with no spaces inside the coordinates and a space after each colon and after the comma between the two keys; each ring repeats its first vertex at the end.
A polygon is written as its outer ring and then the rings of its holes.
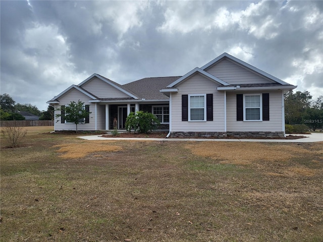
{"type": "Polygon", "coordinates": [[[316,100],[308,91],[289,92],[285,95],[285,123],[306,125],[315,131],[323,125],[323,96],[316,100]]]}

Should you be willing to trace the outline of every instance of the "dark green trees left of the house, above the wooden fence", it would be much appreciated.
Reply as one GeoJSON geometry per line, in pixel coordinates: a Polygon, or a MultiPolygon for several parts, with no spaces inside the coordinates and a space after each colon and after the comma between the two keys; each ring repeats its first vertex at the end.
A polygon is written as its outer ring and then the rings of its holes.
{"type": "Polygon", "coordinates": [[[54,108],[48,105],[46,111],[40,111],[35,105],[30,103],[20,104],[7,93],[0,95],[0,119],[1,120],[25,120],[20,113],[29,112],[39,117],[39,120],[53,120],[54,108]]]}

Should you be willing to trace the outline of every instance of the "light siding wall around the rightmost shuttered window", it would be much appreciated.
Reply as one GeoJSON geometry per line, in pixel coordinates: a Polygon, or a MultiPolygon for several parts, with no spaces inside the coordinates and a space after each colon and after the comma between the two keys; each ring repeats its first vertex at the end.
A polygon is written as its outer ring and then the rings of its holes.
{"type": "MultiPolygon", "coordinates": [[[[261,93],[261,92],[244,92],[247,93],[261,93]]],[[[264,92],[262,92],[264,93],[264,92]]],[[[260,122],[244,122],[237,121],[237,98],[233,92],[227,92],[227,131],[228,132],[250,132],[250,131],[268,131],[281,132],[282,131],[282,92],[281,91],[266,91],[269,93],[269,112],[270,120],[260,122]]]]}

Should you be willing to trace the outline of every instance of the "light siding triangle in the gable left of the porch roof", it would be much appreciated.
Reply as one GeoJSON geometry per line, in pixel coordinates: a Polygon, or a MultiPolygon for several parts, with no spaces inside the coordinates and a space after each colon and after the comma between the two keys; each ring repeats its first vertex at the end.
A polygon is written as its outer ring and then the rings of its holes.
{"type": "Polygon", "coordinates": [[[82,86],[82,88],[99,98],[129,97],[124,92],[116,89],[115,87],[111,86],[110,84],[107,84],[106,82],[98,78],[94,78],[93,80],[87,82],[85,85],[82,86]]]}

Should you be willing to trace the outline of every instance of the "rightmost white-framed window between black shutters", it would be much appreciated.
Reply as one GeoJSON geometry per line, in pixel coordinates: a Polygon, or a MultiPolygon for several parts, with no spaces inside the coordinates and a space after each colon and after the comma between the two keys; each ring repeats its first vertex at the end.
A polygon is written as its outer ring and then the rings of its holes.
{"type": "Polygon", "coordinates": [[[262,121],[262,95],[244,94],[243,95],[243,120],[244,121],[262,121]]]}

